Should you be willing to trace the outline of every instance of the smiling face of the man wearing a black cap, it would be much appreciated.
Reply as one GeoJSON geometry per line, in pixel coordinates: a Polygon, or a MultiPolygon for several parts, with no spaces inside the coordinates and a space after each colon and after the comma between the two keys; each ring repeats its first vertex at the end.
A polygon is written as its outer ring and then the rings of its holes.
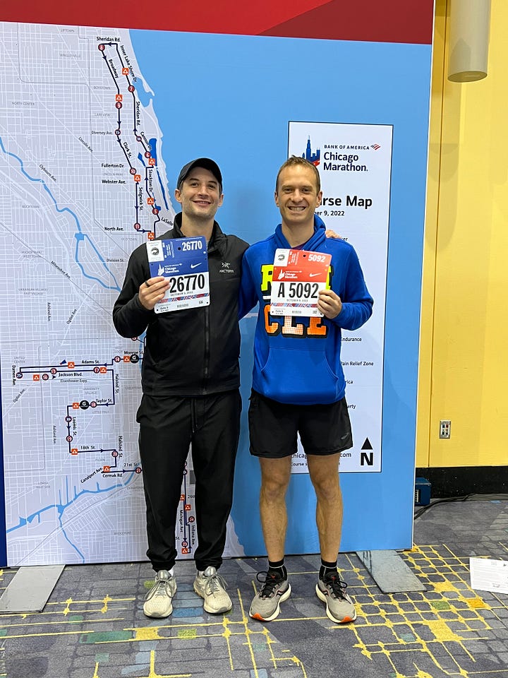
{"type": "Polygon", "coordinates": [[[175,198],[189,219],[213,219],[224,198],[219,182],[209,169],[195,167],[176,189],[175,198]]]}

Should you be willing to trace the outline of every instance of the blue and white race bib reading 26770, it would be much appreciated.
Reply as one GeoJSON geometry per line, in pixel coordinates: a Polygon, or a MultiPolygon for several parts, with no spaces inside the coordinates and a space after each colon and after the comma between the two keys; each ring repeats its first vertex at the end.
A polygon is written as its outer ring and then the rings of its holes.
{"type": "Polygon", "coordinates": [[[210,304],[207,242],[202,236],[147,242],[152,278],[163,275],[169,288],[155,313],[181,311],[210,304]]]}

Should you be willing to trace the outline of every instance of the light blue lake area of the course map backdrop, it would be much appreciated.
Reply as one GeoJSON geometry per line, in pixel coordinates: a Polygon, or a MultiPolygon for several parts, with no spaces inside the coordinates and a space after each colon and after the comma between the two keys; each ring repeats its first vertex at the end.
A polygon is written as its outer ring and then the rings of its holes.
{"type": "MultiPolygon", "coordinates": [[[[290,120],[393,125],[383,466],[381,473],[341,477],[341,549],[411,547],[430,45],[138,30],[131,40],[155,92],[169,196],[171,179],[188,160],[213,157],[224,175],[217,220],[248,242],[278,222],[274,179],[287,156],[290,120]]],[[[244,412],[232,518],[245,552],[262,554],[260,475],[246,428],[254,325],[241,323],[244,412]]],[[[287,552],[317,552],[307,475],[292,478],[288,499],[287,552]]]]}

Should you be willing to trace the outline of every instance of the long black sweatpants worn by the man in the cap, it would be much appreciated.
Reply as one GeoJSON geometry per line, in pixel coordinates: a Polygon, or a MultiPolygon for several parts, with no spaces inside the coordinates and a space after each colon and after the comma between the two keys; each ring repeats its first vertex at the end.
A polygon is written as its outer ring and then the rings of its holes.
{"type": "Polygon", "coordinates": [[[136,419],[147,505],[147,557],[155,571],[171,569],[176,560],[176,516],[191,444],[198,533],[195,564],[198,570],[221,566],[240,414],[238,391],[196,398],[143,396],[136,419]]]}

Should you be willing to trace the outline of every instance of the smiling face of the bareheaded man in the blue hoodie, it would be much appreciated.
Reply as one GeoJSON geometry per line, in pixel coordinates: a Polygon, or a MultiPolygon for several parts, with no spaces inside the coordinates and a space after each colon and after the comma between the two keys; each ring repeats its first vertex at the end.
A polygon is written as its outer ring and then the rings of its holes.
{"type": "Polygon", "coordinates": [[[314,211],[321,204],[322,191],[317,190],[311,167],[289,165],[279,174],[275,204],[280,210],[282,224],[288,228],[313,224],[314,211]]]}

